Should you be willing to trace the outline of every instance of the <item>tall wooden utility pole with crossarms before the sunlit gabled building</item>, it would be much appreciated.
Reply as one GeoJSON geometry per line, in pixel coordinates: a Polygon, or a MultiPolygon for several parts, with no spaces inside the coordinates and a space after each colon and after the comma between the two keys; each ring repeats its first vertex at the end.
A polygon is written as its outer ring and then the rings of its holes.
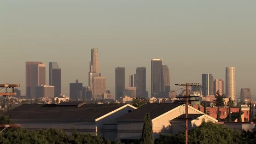
{"type": "MultiPolygon", "coordinates": [[[[188,105],[189,105],[189,87],[200,87],[199,83],[186,83],[186,84],[175,84],[176,86],[186,86],[186,106],[185,106],[185,115],[186,115],[186,127],[185,127],[185,144],[188,144],[188,105]]],[[[193,96],[194,97],[194,96],[193,96]]],[[[196,96],[197,97],[197,96],[196,96]]],[[[179,97],[184,98],[184,97],[179,97]]]]}

